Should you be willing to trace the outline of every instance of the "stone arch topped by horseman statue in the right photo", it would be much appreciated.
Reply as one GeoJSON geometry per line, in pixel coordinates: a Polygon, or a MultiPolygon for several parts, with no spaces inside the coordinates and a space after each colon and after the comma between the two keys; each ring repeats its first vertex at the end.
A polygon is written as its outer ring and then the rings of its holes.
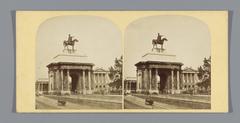
{"type": "Polygon", "coordinates": [[[167,41],[158,33],[157,39],[152,40],[153,48],[142,56],[135,64],[137,67],[137,92],[147,93],[180,93],[182,63],[176,55],[170,54],[163,48],[167,41]],[[158,47],[158,46],[161,47],[158,47]]]}

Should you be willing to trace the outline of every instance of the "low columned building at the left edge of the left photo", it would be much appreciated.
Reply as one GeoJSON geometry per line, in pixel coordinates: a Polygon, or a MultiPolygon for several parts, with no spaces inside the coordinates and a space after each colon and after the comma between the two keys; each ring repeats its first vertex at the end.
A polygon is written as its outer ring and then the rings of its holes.
{"type": "Polygon", "coordinates": [[[48,88],[48,79],[47,78],[40,78],[36,81],[36,85],[35,85],[35,91],[36,93],[38,94],[44,94],[44,93],[47,93],[49,91],[49,88],[48,88]]]}

